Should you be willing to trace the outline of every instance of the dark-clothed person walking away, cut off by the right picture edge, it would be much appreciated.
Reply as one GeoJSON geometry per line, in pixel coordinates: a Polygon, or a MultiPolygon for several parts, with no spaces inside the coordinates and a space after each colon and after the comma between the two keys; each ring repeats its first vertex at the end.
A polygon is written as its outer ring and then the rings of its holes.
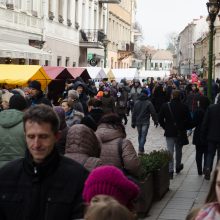
{"type": "Polygon", "coordinates": [[[202,137],[208,142],[207,167],[205,169],[205,179],[210,179],[213,167],[215,152],[218,150],[218,160],[220,152],[220,102],[210,105],[206,111],[202,123],[202,137]]]}

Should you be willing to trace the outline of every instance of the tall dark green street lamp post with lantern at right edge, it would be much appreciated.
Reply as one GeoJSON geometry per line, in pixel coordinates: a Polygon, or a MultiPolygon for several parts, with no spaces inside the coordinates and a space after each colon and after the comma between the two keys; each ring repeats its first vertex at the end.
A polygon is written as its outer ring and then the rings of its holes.
{"type": "Polygon", "coordinates": [[[208,13],[209,13],[209,20],[210,20],[210,33],[209,33],[209,66],[208,66],[208,98],[212,101],[212,61],[213,61],[213,35],[214,35],[214,22],[216,16],[219,12],[219,0],[209,0],[206,3],[208,13]]]}

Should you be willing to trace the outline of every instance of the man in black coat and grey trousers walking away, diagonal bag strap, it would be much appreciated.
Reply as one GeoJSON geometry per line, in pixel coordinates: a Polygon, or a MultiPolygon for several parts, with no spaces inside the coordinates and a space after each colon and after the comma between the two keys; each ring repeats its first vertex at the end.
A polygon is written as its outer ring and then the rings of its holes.
{"type": "MultiPolygon", "coordinates": [[[[180,98],[180,90],[173,90],[171,95],[171,102],[164,103],[159,114],[159,123],[165,130],[164,136],[166,137],[167,148],[172,156],[175,147],[176,173],[179,173],[183,169],[183,164],[181,163],[182,147],[183,144],[188,144],[186,130],[192,127],[192,119],[189,109],[185,104],[181,103],[180,98]],[[179,142],[179,139],[177,138],[178,133],[181,133],[181,138],[183,138],[183,142],[185,143],[179,142]]],[[[171,179],[173,178],[173,164],[174,163],[172,160],[169,163],[169,173],[171,179]]]]}

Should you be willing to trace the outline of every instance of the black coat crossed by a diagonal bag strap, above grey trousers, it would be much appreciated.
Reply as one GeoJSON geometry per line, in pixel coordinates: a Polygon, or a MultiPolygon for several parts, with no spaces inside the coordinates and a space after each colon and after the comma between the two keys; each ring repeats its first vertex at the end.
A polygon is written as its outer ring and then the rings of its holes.
{"type": "MultiPolygon", "coordinates": [[[[170,102],[170,107],[179,130],[186,132],[187,129],[193,127],[189,109],[185,104],[181,103],[181,101],[178,99],[173,99],[170,102]]],[[[165,130],[164,136],[177,137],[177,128],[174,125],[174,121],[167,103],[164,103],[161,107],[159,123],[165,130]]]]}

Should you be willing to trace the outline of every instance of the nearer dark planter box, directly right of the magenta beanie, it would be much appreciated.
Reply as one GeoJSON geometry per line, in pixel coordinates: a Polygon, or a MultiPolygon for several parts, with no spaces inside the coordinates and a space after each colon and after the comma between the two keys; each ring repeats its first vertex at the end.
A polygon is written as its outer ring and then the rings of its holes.
{"type": "Polygon", "coordinates": [[[135,210],[139,218],[146,217],[153,202],[153,176],[148,174],[143,182],[138,183],[140,187],[140,194],[135,203],[135,210]]]}

